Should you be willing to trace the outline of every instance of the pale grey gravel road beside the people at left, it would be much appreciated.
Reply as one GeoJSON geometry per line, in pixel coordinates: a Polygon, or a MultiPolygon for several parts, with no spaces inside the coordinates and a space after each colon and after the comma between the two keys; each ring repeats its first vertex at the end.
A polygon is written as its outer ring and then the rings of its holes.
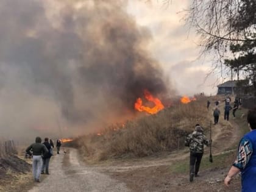
{"type": "Polygon", "coordinates": [[[124,183],[80,162],[76,149],[54,155],[49,172],[50,175],[42,175],[43,180],[29,192],[130,191],[124,183]]]}

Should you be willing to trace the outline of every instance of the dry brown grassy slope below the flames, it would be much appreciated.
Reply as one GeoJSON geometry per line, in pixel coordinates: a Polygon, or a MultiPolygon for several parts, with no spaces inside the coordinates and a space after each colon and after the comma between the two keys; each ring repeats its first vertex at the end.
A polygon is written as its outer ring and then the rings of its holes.
{"type": "Polygon", "coordinates": [[[176,104],[156,115],[110,126],[101,135],[77,138],[75,144],[87,160],[93,161],[171,152],[183,147],[185,136],[196,123],[205,125],[210,121],[207,119],[206,101],[207,98],[199,98],[188,104],[176,104]]]}

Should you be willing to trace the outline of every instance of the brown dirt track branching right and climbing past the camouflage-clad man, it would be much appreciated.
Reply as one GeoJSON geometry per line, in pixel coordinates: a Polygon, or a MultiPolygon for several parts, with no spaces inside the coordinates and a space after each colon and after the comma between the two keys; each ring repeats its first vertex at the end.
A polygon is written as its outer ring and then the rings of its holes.
{"type": "MultiPolygon", "coordinates": [[[[222,105],[219,107],[223,108],[222,105]]],[[[211,119],[212,113],[208,112],[211,119]]],[[[241,138],[240,127],[233,121],[232,114],[230,121],[225,121],[223,116],[221,114],[219,124],[212,126],[213,155],[235,151],[234,146],[241,138]]],[[[207,137],[209,138],[209,135],[207,137]]],[[[204,156],[207,157],[209,152],[210,149],[205,148],[204,156]]],[[[112,177],[126,182],[132,191],[240,191],[240,176],[233,181],[235,185],[230,188],[224,187],[223,180],[230,167],[223,167],[221,164],[212,169],[202,170],[201,177],[197,177],[193,183],[188,181],[187,174],[174,175],[169,171],[174,163],[184,160],[189,162],[189,154],[189,149],[185,148],[162,157],[113,161],[98,166],[112,177]]],[[[214,156],[213,159],[215,160],[214,156]]],[[[231,166],[232,159],[229,162],[231,166]]]]}

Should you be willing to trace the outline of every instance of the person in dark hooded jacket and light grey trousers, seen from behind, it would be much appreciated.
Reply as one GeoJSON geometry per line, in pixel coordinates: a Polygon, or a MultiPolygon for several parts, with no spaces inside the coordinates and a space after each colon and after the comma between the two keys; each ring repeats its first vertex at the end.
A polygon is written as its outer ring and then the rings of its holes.
{"type": "Polygon", "coordinates": [[[48,154],[48,149],[44,144],[41,143],[41,138],[36,137],[35,143],[30,144],[30,146],[26,149],[27,154],[32,155],[30,151],[33,152],[33,176],[35,182],[40,182],[41,168],[43,165],[42,155],[48,154]]]}

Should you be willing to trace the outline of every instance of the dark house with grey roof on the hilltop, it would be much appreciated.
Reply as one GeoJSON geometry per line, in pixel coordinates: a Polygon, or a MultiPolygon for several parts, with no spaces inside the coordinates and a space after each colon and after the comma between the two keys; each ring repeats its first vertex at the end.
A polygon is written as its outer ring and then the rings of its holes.
{"type": "Polygon", "coordinates": [[[249,80],[228,80],[223,84],[217,85],[218,93],[217,94],[241,94],[247,93],[249,89],[249,80]],[[232,91],[233,88],[233,91],[232,91]],[[239,93],[238,93],[239,92],[239,93]]]}

